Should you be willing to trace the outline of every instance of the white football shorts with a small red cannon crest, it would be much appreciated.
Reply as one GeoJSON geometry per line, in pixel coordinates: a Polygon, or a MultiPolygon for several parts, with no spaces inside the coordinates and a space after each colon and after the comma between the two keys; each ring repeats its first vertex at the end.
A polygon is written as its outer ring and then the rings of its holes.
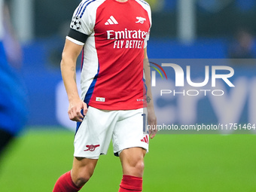
{"type": "Polygon", "coordinates": [[[116,156],[126,148],[139,147],[148,152],[146,121],[146,108],[108,111],[90,106],[78,123],[74,156],[99,159],[99,155],[107,154],[111,139],[116,156]]]}

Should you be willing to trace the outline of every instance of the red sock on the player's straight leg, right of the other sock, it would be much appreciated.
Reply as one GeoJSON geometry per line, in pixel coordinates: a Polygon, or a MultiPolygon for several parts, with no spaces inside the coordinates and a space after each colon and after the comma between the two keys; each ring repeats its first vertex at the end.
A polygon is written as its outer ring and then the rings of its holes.
{"type": "Polygon", "coordinates": [[[118,192],[131,192],[131,190],[137,192],[142,191],[142,178],[131,175],[123,175],[118,192]]]}

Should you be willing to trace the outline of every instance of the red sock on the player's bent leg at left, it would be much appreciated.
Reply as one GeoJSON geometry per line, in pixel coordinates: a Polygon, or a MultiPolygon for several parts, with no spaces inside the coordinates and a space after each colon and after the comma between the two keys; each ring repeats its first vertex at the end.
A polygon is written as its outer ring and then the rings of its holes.
{"type": "Polygon", "coordinates": [[[56,181],[53,192],[77,192],[81,187],[77,187],[71,178],[71,171],[61,175],[56,181]]]}

